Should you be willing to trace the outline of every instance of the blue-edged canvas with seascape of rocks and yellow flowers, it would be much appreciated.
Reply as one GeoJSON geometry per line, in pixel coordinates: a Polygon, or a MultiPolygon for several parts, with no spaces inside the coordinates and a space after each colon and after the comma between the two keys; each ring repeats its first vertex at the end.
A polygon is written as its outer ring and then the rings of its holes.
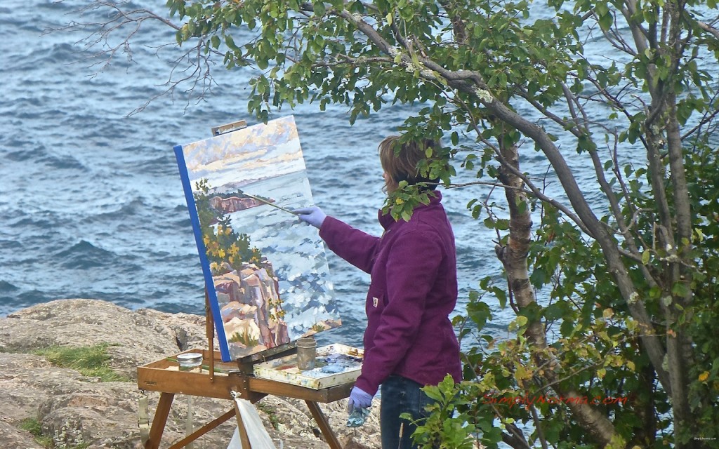
{"type": "Polygon", "coordinates": [[[175,147],[223,361],[336,328],[292,116],[175,147]]]}

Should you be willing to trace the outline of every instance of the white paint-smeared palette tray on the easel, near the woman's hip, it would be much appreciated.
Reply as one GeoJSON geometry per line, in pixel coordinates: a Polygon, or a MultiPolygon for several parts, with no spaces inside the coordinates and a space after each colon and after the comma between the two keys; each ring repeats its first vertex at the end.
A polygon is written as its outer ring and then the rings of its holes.
{"type": "Polygon", "coordinates": [[[313,369],[301,371],[297,367],[297,356],[292,355],[255,364],[254,374],[262,379],[322,389],[357,379],[364,355],[362,349],[335,343],[317,348],[313,369]]]}

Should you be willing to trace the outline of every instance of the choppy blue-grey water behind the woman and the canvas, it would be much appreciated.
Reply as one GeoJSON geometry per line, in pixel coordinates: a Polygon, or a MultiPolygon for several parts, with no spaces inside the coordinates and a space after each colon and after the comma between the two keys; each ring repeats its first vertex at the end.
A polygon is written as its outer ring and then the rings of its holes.
{"type": "MultiPolygon", "coordinates": [[[[145,3],[164,9],[164,1],[145,3]]],[[[82,33],[45,33],[80,19],[82,4],[4,0],[0,6],[0,315],[72,297],[203,313],[203,279],[173,145],[247,118],[251,73],[216,67],[218,85],[204,101],[178,91],[128,116],[164,91],[173,54],[152,46],[173,42],[173,32],[148,27],[134,47],[137,63],[117,55],[93,77],[75,43],[82,33]]],[[[295,115],[316,203],[379,233],[383,180],[376,148],[409,113],[390,107],[354,126],[344,108],[301,105],[276,116],[295,115]]],[[[482,189],[444,193],[457,236],[458,312],[469,287],[500,271],[493,234],[465,208],[487,194],[482,189]]],[[[332,338],[357,344],[369,279],[333,254],[329,264],[344,322],[332,338]]]]}

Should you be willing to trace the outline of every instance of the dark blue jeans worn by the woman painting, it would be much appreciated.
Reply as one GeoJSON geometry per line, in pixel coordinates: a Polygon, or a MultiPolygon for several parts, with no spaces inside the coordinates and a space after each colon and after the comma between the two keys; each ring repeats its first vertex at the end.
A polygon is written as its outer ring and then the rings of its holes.
{"type": "Polygon", "coordinates": [[[417,448],[412,444],[412,433],[416,426],[400,419],[400,415],[409,413],[414,420],[426,417],[424,407],[434,401],[421,388],[422,385],[416,381],[402,376],[390,376],[383,382],[380,402],[382,449],[417,448]]]}

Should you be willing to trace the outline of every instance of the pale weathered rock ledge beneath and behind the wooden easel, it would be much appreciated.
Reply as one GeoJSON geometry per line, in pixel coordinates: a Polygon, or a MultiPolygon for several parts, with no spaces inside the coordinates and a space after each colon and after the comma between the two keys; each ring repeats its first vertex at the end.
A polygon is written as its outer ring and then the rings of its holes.
{"type": "MultiPolygon", "coordinates": [[[[159,394],[137,388],[137,366],[206,344],[203,316],[129,310],[100,300],[55,300],[0,318],[0,448],[142,448],[139,400],[147,397],[152,420],[159,394]],[[110,368],[128,381],[83,376],[35,355],[52,346],[103,343],[109,344],[110,368]],[[28,423],[37,431],[24,430],[28,423]]],[[[175,397],[161,448],[185,436],[188,406],[199,427],[232,402],[175,397]]],[[[321,404],[343,447],[380,448],[379,407],[358,429],[345,427],[346,407],[347,399],[321,404]]],[[[265,397],[257,409],[278,448],[329,448],[303,401],[265,397]]],[[[196,440],[193,449],[226,448],[234,428],[233,420],[225,422],[196,440]]]]}

